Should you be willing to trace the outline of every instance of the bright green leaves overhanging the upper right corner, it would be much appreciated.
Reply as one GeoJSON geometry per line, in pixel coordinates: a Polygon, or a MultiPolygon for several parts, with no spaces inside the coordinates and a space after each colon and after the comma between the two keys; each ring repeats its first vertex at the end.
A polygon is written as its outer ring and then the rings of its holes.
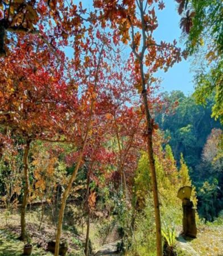
{"type": "MultiPolygon", "coordinates": [[[[207,104],[214,94],[212,116],[223,122],[223,12],[221,0],[191,0],[193,26],[187,36],[189,54],[200,62],[196,68],[196,101],[207,104]],[[201,61],[199,60],[201,59],[201,61]]],[[[196,61],[197,62],[197,61],[196,61]]]]}

